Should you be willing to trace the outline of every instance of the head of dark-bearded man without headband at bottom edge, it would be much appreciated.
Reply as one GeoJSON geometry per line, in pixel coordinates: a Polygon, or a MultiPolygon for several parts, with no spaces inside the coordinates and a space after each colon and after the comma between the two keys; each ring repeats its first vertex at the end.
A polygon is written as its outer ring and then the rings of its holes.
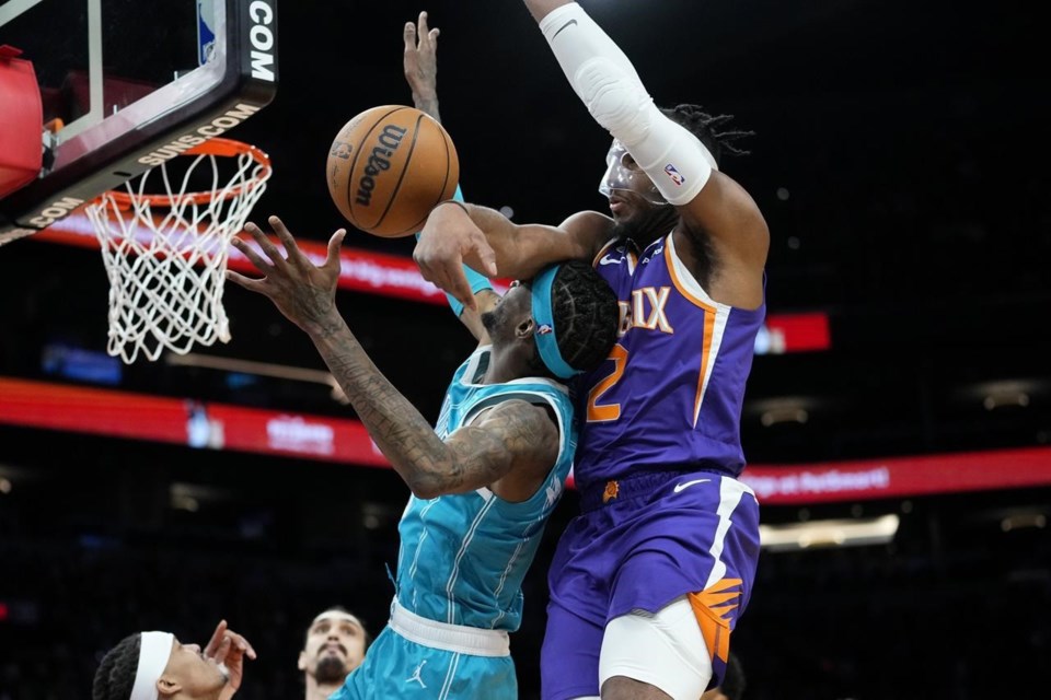
{"type": "Polygon", "coordinates": [[[327,700],[361,665],[371,638],[357,616],[335,606],[317,614],[307,628],[299,669],[307,684],[307,700],[327,700]]]}

